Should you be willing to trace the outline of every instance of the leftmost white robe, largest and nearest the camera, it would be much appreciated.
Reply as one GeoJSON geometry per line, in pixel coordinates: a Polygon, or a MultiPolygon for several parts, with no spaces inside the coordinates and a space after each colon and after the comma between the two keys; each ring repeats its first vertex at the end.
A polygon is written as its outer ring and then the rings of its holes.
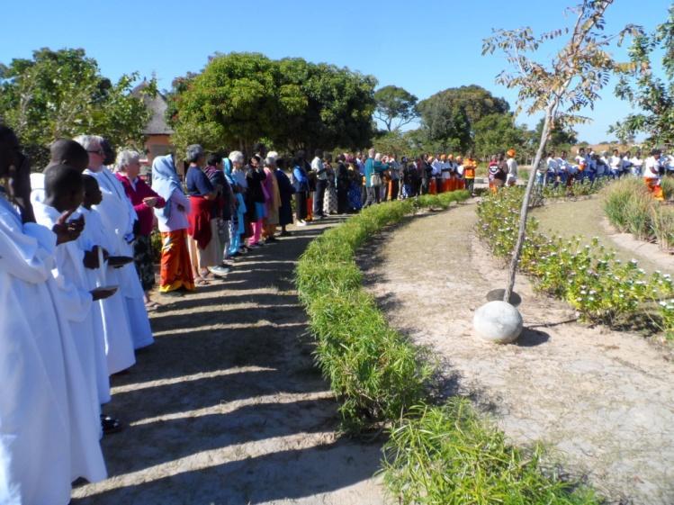
{"type": "MultiPolygon", "coordinates": [[[[56,236],[0,197],[0,503],[65,505],[105,478],[97,427],[55,299],[56,236]]],[[[100,424],[100,422],[98,423],[100,424]]]]}

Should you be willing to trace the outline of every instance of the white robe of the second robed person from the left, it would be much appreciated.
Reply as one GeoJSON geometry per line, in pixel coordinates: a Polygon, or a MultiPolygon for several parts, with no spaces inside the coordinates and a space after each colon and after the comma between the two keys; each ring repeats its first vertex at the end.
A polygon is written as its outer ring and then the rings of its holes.
{"type": "MultiPolygon", "coordinates": [[[[61,212],[54,207],[41,203],[36,203],[33,209],[35,221],[47,228],[52,228],[61,215],[61,212]]],[[[94,320],[94,299],[87,287],[84,257],[85,251],[79,248],[75,240],[57,246],[56,268],[51,270],[51,274],[56,279],[60,290],[61,307],[65,311],[64,315],[75,339],[75,347],[85,372],[86,385],[90,389],[92,405],[97,417],[100,415],[101,400],[110,401],[110,379],[107,367],[100,370],[99,366],[100,355],[103,355],[103,363],[105,363],[103,322],[94,320]],[[99,323],[98,326],[96,322],[99,323]],[[108,381],[107,399],[99,394],[101,382],[99,374],[103,374],[105,380],[108,381]]]]}

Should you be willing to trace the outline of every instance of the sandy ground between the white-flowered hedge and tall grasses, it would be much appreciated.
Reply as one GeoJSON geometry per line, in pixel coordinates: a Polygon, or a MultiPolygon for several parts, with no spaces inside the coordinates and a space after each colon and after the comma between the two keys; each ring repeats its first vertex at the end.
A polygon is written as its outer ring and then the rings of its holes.
{"type": "Polygon", "coordinates": [[[592,237],[607,248],[616,250],[616,257],[623,261],[634,258],[647,272],[661,270],[674,274],[674,256],[662,251],[657,244],[634,239],[629,233],[614,230],[604,217],[600,195],[580,199],[578,202],[547,200],[532,215],[540,222],[540,230],[548,235],[572,237],[582,235],[589,242],[592,237]]]}

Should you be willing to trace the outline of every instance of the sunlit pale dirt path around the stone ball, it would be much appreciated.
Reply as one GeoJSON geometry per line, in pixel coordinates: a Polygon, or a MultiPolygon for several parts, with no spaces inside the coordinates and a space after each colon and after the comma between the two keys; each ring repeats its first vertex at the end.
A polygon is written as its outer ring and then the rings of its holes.
{"type": "Polygon", "coordinates": [[[549,444],[613,500],[674,503],[674,365],[643,338],[562,322],[568,306],[521,276],[528,328],[518,344],[475,338],[473,311],[506,277],[475,220],[474,204],[427,214],[364,251],[368,289],[392,324],[445,358],[447,393],[472,395],[515,443],[549,444]]]}

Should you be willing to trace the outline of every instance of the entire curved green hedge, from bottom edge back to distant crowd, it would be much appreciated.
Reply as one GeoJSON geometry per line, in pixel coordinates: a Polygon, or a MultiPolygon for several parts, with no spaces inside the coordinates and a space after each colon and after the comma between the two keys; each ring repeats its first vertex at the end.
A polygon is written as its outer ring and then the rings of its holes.
{"type": "Polygon", "coordinates": [[[365,209],[311,242],[296,270],[317,339],[316,361],[351,433],[388,425],[382,473],[404,504],[594,505],[591,491],[545,473],[540,447],[521,451],[469,401],[428,405],[436,370],[427,351],[392,329],[364,292],[355,251],[420,208],[447,208],[465,191],[365,209]]]}

